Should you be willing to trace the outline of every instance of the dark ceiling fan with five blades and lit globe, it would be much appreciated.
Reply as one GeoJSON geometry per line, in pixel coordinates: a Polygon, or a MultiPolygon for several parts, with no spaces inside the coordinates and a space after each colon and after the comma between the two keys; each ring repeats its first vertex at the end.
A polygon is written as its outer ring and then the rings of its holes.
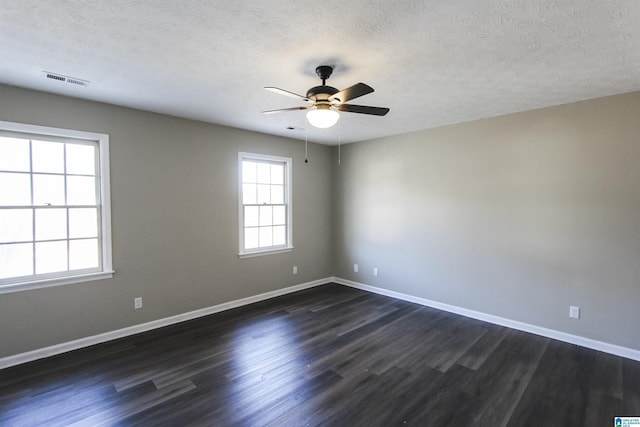
{"type": "Polygon", "coordinates": [[[352,99],[373,92],[373,88],[364,83],[356,83],[355,85],[342,90],[327,86],[326,81],[331,77],[332,72],[333,67],[330,65],[320,65],[317,67],[316,74],[322,80],[322,86],[312,87],[307,91],[306,96],[298,95],[297,93],[289,92],[277,87],[265,87],[265,89],[272,92],[290,96],[292,98],[298,98],[310,103],[311,105],[263,111],[262,114],[280,113],[282,111],[308,110],[307,120],[309,120],[309,123],[318,128],[329,128],[338,122],[338,119],[340,118],[338,111],[371,114],[374,116],[384,116],[389,112],[388,108],[345,104],[347,101],[351,101],[352,99]]]}

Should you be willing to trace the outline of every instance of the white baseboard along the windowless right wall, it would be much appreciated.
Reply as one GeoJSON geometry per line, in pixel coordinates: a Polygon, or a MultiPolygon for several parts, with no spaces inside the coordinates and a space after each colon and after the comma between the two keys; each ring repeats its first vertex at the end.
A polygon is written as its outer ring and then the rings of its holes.
{"type": "Polygon", "coordinates": [[[581,337],[578,335],[568,334],[566,332],[556,331],[553,329],[547,329],[528,323],[518,322],[516,320],[507,319],[504,317],[494,316],[492,314],[486,314],[479,311],[469,310],[454,305],[443,304],[441,302],[432,301],[426,298],[420,298],[413,295],[407,295],[400,292],[390,291],[388,289],[377,288],[375,286],[365,285],[363,283],[354,282],[351,280],[341,279],[334,277],[333,282],[350,286],[352,288],[362,289],[368,292],[373,292],[380,295],[386,295],[388,297],[413,302],[416,304],[424,305],[427,307],[437,308],[439,310],[447,311],[461,316],[470,317],[472,319],[482,320],[495,325],[506,326],[507,328],[517,329],[519,331],[530,332],[532,334],[541,335],[543,337],[552,338],[558,341],[564,341],[571,344],[576,344],[581,347],[590,348],[593,350],[603,351],[605,353],[613,354],[616,356],[626,357],[628,359],[640,361],[640,350],[634,350],[627,347],[622,347],[615,344],[609,344],[602,341],[592,340],[590,338],[581,337]]]}

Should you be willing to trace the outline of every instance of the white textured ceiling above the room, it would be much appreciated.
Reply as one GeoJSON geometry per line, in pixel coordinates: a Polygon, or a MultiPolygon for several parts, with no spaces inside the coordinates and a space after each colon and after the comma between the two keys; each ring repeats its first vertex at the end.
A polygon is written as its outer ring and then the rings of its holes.
{"type": "Polygon", "coordinates": [[[342,142],[631,92],[640,1],[0,0],[9,85],[304,139],[304,112],[260,114],[302,104],[263,87],[304,94],[321,64],[391,109],[342,113],[342,142]]]}

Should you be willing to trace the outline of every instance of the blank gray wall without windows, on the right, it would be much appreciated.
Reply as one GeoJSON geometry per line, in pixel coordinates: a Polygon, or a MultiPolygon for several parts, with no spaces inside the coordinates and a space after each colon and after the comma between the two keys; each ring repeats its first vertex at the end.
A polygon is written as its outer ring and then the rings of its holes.
{"type": "Polygon", "coordinates": [[[640,93],[350,144],[334,174],[337,276],[640,349],[640,93]]]}

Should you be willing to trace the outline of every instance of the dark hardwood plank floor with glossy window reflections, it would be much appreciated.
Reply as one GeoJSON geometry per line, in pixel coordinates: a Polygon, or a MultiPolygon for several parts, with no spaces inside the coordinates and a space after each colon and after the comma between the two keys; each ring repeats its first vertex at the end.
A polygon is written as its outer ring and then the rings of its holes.
{"type": "Polygon", "coordinates": [[[611,426],[640,362],[330,284],[0,371],[1,426],[611,426]]]}

